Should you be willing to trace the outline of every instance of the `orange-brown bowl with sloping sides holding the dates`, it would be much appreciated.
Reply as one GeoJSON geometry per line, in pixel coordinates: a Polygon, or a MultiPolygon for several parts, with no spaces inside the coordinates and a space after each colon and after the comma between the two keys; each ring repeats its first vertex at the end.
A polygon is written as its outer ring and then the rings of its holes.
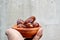
{"type": "Polygon", "coordinates": [[[18,28],[17,25],[14,25],[12,28],[19,31],[24,38],[32,38],[33,36],[35,36],[35,34],[37,33],[37,31],[39,30],[40,27],[36,27],[36,28],[18,28]]]}

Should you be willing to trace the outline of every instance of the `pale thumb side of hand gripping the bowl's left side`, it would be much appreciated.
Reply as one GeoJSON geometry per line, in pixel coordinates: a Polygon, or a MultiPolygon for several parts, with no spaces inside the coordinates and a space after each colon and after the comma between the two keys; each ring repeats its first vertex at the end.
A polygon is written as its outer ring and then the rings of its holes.
{"type": "Polygon", "coordinates": [[[7,29],[6,35],[8,37],[8,40],[24,40],[21,34],[15,30],[15,29],[7,29]]]}

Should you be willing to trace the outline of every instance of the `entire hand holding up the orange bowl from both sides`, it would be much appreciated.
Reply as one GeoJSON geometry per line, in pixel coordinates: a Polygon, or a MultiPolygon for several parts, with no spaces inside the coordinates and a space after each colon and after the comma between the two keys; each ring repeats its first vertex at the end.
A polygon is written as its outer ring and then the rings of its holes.
{"type": "MultiPolygon", "coordinates": [[[[25,39],[25,40],[39,40],[42,37],[43,29],[40,28],[37,34],[33,37],[33,39],[25,39]]],[[[7,29],[6,35],[8,37],[8,40],[24,40],[22,35],[15,29],[7,29]]]]}

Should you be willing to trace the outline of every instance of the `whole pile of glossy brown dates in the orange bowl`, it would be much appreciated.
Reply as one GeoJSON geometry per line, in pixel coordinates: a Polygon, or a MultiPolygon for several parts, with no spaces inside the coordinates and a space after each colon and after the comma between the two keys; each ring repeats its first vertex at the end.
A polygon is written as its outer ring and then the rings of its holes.
{"type": "Polygon", "coordinates": [[[35,28],[35,27],[40,27],[39,23],[34,22],[36,20],[35,16],[31,16],[29,18],[27,18],[25,21],[23,21],[22,19],[18,19],[17,20],[17,26],[18,28],[35,28]]]}

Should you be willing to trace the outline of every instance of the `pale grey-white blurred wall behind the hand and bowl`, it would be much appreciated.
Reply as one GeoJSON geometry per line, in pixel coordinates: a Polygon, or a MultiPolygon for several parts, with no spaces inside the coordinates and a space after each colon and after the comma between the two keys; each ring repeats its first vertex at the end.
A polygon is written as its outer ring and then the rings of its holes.
{"type": "Polygon", "coordinates": [[[0,40],[18,18],[36,16],[43,27],[41,40],[60,40],[60,0],[0,0],[0,40]]]}

